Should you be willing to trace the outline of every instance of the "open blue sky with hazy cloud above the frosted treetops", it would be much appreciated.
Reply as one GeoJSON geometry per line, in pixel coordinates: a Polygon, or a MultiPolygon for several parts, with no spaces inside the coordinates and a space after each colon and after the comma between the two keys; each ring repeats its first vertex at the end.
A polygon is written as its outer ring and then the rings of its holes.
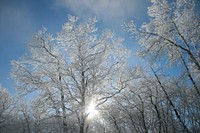
{"type": "MultiPolygon", "coordinates": [[[[26,51],[31,36],[42,26],[52,34],[59,32],[68,14],[82,20],[97,17],[100,29],[109,28],[125,38],[125,45],[135,51],[130,35],[121,28],[123,22],[136,20],[138,25],[147,18],[149,0],[1,0],[0,1],[0,84],[14,93],[10,77],[12,60],[26,51]]],[[[133,58],[137,64],[138,59],[133,58]]]]}

